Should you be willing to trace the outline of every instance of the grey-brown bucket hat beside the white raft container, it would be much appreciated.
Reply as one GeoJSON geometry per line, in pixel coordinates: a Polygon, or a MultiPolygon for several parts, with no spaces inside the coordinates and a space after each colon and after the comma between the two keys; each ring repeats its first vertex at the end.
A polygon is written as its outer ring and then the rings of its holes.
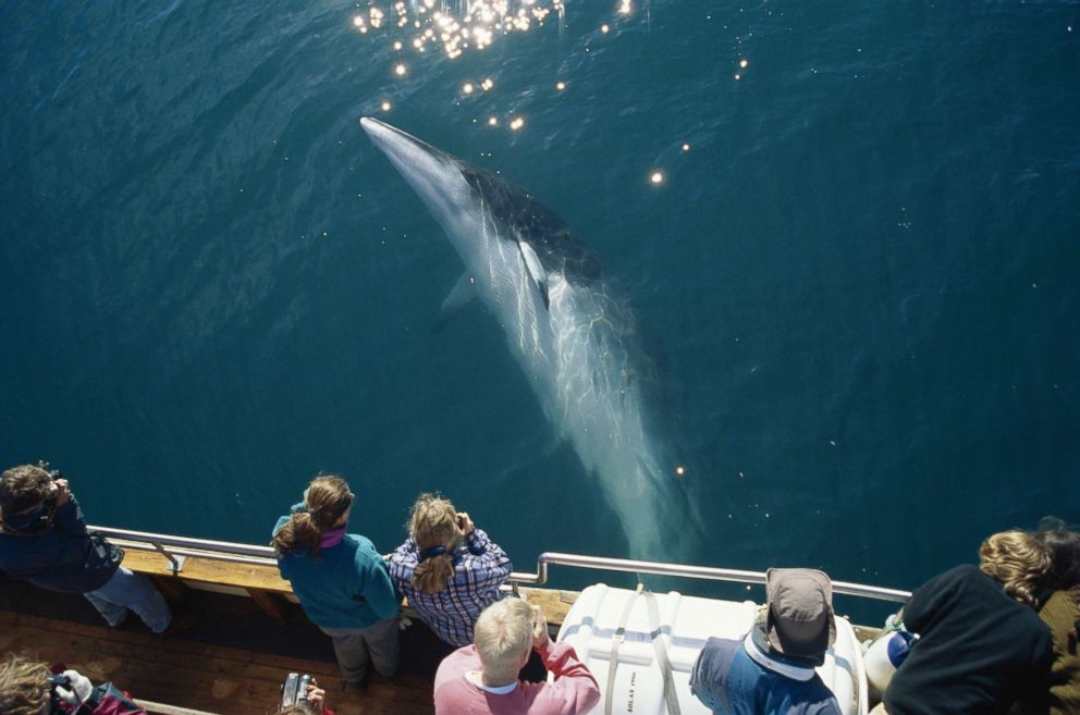
{"type": "Polygon", "coordinates": [[[824,663],[825,651],[836,640],[829,577],[809,568],[771,568],[765,571],[765,597],[769,613],[760,636],[768,637],[769,650],[824,663]]]}

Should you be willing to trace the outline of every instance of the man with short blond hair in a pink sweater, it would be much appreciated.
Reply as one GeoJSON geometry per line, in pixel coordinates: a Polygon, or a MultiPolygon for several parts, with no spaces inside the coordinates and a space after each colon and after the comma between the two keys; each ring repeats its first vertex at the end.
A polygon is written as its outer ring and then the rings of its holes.
{"type": "Polygon", "coordinates": [[[578,715],[600,701],[596,678],[567,643],[552,643],[537,606],[503,599],[476,621],[475,643],[461,648],[435,674],[435,715],[578,715]],[[518,674],[536,649],[554,682],[523,682],[518,674]]]}

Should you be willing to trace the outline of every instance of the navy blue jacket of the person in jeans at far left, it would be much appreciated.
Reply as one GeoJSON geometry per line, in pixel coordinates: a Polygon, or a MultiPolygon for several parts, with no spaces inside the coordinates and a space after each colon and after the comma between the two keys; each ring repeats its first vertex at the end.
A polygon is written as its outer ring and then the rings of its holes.
{"type": "Polygon", "coordinates": [[[0,531],[0,570],[9,576],[52,591],[88,593],[120,568],[123,552],[90,539],[75,497],[57,508],[51,526],[23,521],[8,519],[19,534],[0,531]]]}

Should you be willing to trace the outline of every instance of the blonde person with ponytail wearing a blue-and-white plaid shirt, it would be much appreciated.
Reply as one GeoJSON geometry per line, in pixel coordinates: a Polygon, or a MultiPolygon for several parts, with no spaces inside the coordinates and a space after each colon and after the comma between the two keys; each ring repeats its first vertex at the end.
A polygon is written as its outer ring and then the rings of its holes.
{"type": "Polygon", "coordinates": [[[395,585],[439,638],[470,644],[480,613],[502,597],[510,557],[437,494],[416,500],[406,528],[409,538],[390,555],[395,585]]]}

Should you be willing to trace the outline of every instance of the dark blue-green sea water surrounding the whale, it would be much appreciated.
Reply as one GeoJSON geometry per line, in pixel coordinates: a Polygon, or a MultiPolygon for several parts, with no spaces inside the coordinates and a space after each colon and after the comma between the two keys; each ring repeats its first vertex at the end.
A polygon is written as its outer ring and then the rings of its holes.
{"type": "Polygon", "coordinates": [[[440,489],[520,568],[626,555],[491,316],[431,331],[461,261],[375,115],[600,257],[679,557],[911,588],[1080,518],[1080,4],[567,0],[456,58],[371,4],[0,4],[4,466],[101,525],[262,542],[326,470],[384,550],[440,489]]]}

